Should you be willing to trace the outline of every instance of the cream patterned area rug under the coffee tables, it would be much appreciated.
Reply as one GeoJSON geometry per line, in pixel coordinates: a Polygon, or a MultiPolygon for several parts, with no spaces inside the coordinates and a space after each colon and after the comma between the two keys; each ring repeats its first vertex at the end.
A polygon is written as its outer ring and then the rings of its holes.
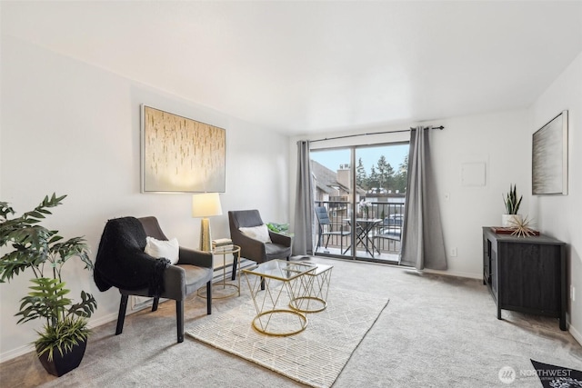
{"type": "Polygon", "coordinates": [[[307,327],[286,337],[258,333],[250,298],[186,327],[186,334],[218,349],[283,374],[299,383],[329,387],[388,300],[369,293],[330,288],[327,308],[307,315],[307,327]]]}

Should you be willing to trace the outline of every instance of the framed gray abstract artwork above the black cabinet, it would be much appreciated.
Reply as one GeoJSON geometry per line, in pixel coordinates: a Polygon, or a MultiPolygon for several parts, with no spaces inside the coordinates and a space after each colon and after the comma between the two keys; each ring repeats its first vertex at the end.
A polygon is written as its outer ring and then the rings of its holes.
{"type": "Polygon", "coordinates": [[[567,111],[532,138],[532,194],[567,194],[567,111]]]}

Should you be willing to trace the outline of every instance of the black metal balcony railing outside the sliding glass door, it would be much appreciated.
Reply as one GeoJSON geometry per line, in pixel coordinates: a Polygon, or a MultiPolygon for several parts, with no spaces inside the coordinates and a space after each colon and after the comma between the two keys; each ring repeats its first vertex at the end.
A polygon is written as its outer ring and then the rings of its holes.
{"type": "MultiPolygon", "coordinates": [[[[351,214],[352,204],[347,201],[316,201],[316,206],[324,206],[331,224],[323,225],[324,232],[331,231],[352,231],[351,214]]],[[[390,202],[370,202],[367,211],[359,204],[356,204],[356,218],[380,219],[381,221],[370,228],[366,237],[356,239],[356,256],[372,256],[374,252],[376,259],[382,260],[383,256],[400,253],[400,238],[402,225],[404,224],[404,198],[392,198],[390,202]],[[367,243],[367,246],[365,244],[367,243]]],[[[317,225],[318,227],[319,225],[317,225]]],[[[356,229],[356,233],[361,229],[356,229]]],[[[330,234],[322,237],[318,253],[337,253],[351,256],[350,247],[351,236],[341,234],[330,234]],[[329,237],[329,240],[327,240],[329,237]],[[327,247],[326,247],[327,243],[327,247]]]]}

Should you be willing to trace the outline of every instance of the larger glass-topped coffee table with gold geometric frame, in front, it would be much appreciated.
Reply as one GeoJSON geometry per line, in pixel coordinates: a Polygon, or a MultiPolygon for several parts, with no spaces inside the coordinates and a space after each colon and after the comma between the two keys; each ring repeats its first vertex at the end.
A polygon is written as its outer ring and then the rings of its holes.
{"type": "Polygon", "coordinates": [[[242,270],[255,303],[252,324],[257,332],[286,336],[306,329],[306,313],[291,308],[290,303],[308,296],[313,279],[304,275],[315,270],[314,264],[286,260],[270,260],[242,270]]]}

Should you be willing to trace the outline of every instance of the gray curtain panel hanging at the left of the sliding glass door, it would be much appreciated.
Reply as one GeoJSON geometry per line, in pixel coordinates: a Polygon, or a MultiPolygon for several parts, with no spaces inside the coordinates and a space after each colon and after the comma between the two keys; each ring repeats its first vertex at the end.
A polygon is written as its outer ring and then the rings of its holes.
{"type": "Polygon", "coordinates": [[[293,254],[313,254],[313,178],[309,142],[297,142],[297,188],[293,254]]]}

